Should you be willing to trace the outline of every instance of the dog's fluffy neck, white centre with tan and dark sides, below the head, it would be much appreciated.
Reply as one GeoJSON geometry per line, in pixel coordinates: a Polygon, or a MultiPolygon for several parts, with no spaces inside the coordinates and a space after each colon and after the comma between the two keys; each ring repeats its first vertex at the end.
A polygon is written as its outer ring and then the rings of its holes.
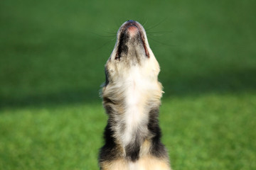
{"type": "Polygon", "coordinates": [[[131,67],[126,76],[119,76],[117,81],[102,89],[114,139],[124,149],[124,154],[134,152],[132,149],[139,148],[151,137],[149,113],[160,105],[161,84],[144,75],[142,69],[131,67]]]}

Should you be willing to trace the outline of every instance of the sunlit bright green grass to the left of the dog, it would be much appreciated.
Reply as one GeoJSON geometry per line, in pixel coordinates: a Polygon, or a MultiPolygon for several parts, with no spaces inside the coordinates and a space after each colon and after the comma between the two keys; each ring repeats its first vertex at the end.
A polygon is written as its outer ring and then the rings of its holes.
{"type": "Polygon", "coordinates": [[[2,111],[0,168],[97,169],[104,122],[99,106],[2,111]]]}

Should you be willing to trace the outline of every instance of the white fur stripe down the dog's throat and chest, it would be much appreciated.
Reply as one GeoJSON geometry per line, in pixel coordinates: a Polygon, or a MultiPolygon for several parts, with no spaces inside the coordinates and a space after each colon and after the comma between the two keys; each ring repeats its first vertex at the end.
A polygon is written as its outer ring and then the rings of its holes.
{"type": "MultiPolygon", "coordinates": [[[[119,132],[122,145],[125,147],[136,140],[136,132],[143,138],[148,134],[149,98],[154,91],[159,91],[159,86],[151,79],[150,72],[145,72],[141,67],[132,67],[126,77],[119,79],[119,84],[124,88],[124,114],[121,123],[125,125],[124,131],[119,132]]],[[[137,139],[138,140],[138,139],[137,139]]]]}

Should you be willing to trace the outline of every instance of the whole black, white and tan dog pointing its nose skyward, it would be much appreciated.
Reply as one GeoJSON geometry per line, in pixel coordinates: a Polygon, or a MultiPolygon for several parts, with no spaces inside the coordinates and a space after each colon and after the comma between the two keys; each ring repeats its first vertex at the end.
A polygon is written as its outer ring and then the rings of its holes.
{"type": "Polygon", "coordinates": [[[122,24],[105,64],[102,99],[109,119],[105,145],[100,149],[100,169],[171,169],[160,141],[158,115],[163,91],[159,72],[142,25],[132,20],[122,24]]]}

